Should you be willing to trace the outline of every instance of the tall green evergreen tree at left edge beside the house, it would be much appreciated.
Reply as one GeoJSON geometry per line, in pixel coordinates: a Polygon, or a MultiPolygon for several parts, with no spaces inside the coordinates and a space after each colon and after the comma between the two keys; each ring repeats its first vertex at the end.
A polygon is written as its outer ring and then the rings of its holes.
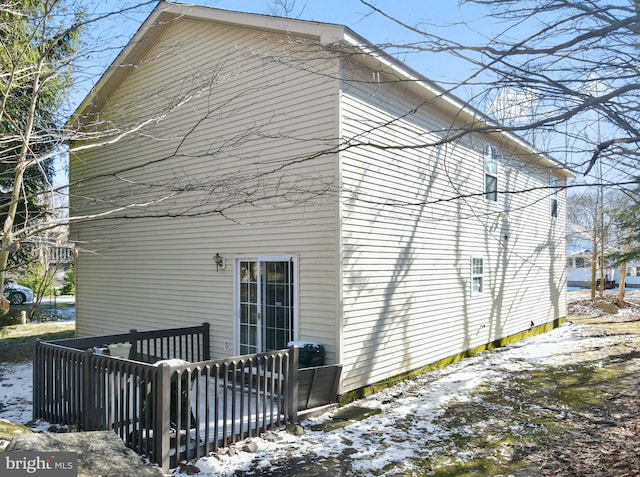
{"type": "Polygon", "coordinates": [[[0,6],[0,282],[10,254],[48,210],[45,192],[64,137],[56,115],[71,84],[81,19],[59,0],[0,6]]]}

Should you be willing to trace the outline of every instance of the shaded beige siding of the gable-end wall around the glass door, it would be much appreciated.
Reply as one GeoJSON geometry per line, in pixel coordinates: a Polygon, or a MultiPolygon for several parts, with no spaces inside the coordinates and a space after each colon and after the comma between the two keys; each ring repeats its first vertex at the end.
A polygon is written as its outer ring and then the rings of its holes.
{"type": "MultiPolygon", "coordinates": [[[[335,360],[335,156],[318,153],[335,145],[337,82],[270,61],[283,48],[295,53],[282,39],[176,20],[109,98],[105,119],[164,116],[72,158],[72,180],[98,177],[73,187],[75,215],[134,203],[121,215],[148,217],[72,226],[79,334],[208,321],[213,355],[228,356],[233,258],[296,254],[298,336],[335,360]],[[154,218],[166,211],[175,217],[154,218]],[[216,253],[225,270],[216,271],[216,253]]],[[[309,60],[308,48],[300,59],[329,73],[332,63],[309,60]]]]}

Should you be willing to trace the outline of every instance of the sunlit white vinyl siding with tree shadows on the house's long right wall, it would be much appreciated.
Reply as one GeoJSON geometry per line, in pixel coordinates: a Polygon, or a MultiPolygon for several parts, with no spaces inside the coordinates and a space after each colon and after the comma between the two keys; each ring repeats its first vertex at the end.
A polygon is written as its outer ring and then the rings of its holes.
{"type": "Polygon", "coordinates": [[[565,316],[564,232],[541,200],[548,171],[502,151],[501,189],[542,187],[486,201],[486,138],[419,147],[450,127],[437,101],[407,115],[406,91],[351,73],[362,81],[343,85],[345,138],[378,147],[341,156],[343,390],[565,316]],[[472,296],[473,256],[484,293],[472,296]]]}

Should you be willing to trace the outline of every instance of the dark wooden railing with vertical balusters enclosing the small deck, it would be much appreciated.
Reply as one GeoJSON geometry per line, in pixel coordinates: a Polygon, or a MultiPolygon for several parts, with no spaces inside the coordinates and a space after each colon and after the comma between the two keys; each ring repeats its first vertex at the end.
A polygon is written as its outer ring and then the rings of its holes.
{"type": "Polygon", "coordinates": [[[34,419],[113,430],[165,472],[297,420],[297,348],[209,358],[207,324],[37,341],[34,419]],[[95,352],[119,342],[130,359],[95,352]]]}

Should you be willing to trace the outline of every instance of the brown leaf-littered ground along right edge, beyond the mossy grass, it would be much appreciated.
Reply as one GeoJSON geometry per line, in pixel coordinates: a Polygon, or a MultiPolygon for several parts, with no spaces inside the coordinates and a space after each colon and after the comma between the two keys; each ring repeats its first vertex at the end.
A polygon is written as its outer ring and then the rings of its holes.
{"type": "MultiPolygon", "coordinates": [[[[614,299],[613,293],[605,296],[605,301],[614,299]]],[[[522,476],[640,476],[640,296],[627,295],[619,315],[601,313],[598,301],[572,300],[569,319],[636,346],[606,350],[608,362],[624,371],[591,389],[605,398],[597,408],[574,413],[569,431],[526,455],[532,467],[522,476]]]]}

